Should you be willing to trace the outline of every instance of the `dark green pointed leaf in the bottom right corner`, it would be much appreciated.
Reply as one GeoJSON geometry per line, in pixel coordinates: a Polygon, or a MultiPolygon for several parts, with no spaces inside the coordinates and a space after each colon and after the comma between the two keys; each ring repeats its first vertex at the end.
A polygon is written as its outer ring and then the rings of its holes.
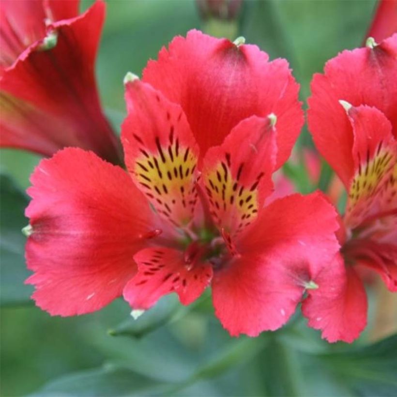
{"type": "Polygon", "coordinates": [[[377,343],[317,356],[359,396],[396,396],[397,334],[377,343]]]}

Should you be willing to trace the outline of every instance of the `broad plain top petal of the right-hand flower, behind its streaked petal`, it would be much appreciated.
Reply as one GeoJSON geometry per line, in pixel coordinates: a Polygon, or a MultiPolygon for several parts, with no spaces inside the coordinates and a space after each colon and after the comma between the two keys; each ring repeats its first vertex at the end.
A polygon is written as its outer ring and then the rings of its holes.
{"type": "Polygon", "coordinates": [[[320,153],[348,187],[354,165],[351,124],[339,100],[381,110],[397,137],[397,34],[374,48],[343,51],[316,74],[308,99],[308,123],[320,153]]]}

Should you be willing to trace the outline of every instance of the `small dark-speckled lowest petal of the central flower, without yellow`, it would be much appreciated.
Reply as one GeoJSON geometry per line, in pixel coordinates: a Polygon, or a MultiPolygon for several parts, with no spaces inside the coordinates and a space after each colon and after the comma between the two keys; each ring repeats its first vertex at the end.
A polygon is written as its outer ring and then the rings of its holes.
{"type": "Polygon", "coordinates": [[[208,286],[212,267],[208,263],[186,263],[182,251],[164,247],[146,248],[134,259],[137,275],[125,286],[124,299],[134,309],[149,309],[158,299],[176,292],[183,305],[190,305],[208,286]]]}

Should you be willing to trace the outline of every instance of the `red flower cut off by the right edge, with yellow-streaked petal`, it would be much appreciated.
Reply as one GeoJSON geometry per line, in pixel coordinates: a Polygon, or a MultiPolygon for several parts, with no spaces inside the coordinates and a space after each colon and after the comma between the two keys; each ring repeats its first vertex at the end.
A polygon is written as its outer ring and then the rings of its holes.
{"type": "Polygon", "coordinates": [[[351,341],[366,325],[366,293],[356,266],[375,270],[389,290],[397,290],[397,34],[343,51],[324,72],[311,83],[309,129],[348,200],[336,258],[340,278],[324,278],[334,290],[322,302],[308,299],[303,310],[318,318],[310,325],[329,339],[351,341]]]}

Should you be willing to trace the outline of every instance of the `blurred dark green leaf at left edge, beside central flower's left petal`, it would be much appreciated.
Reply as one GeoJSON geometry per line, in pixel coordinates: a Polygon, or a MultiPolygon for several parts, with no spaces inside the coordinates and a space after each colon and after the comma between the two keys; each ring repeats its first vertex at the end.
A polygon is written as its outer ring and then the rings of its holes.
{"type": "Polygon", "coordinates": [[[1,305],[31,304],[32,287],[24,285],[30,273],[24,257],[26,238],[21,231],[28,224],[24,216],[28,197],[3,173],[0,174],[0,195],[1,305]]]}

